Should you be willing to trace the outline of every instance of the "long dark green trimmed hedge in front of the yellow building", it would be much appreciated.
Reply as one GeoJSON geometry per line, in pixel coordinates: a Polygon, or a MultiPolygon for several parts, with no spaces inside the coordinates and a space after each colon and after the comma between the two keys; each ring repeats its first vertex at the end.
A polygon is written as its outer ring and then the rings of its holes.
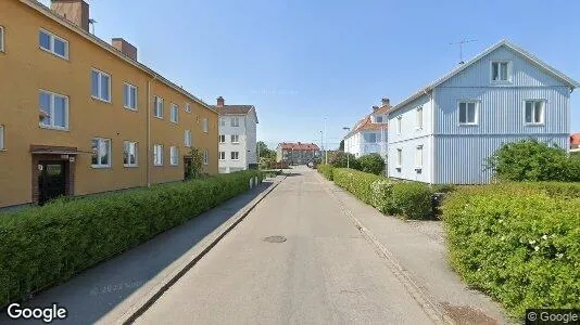
{"type": "Polygon", "coordinates": [[[249,188],[241,171],[0,214],[0,307],[63,282],[249,188]]]}

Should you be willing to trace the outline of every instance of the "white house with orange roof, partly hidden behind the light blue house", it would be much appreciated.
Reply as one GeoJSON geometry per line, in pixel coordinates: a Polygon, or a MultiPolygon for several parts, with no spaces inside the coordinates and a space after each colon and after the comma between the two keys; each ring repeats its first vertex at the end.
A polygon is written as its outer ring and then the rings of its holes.
{"type": "Polygon", "coordinates": [[[387,120],[391,108],[389,99],[382,99],[380,107],[360,120],[344,136],[344,152],[361,157],[379,154],[387,160],[387,120]]]}

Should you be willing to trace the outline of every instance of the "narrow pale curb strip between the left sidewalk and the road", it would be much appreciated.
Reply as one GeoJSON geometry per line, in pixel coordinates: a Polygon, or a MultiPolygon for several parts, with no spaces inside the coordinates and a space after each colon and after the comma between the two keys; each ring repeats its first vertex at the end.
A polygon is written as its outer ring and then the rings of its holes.
{"type": "MultiPolygon", "coordinates": [[[[219,243],[231,230],[236,227],[248,214],[272,192],[276,188],[283,180],[275,180],[274,183],[266,188],[265,192],[261,193],[252,202],[250,202],[245,207],[238,211],[234,217],[231,217],[226,223],[222,224],[216,229],[212,234],[211,239],[200,243],[201,247],[193,247],[192,256],[187,257],[174,270],[169,271],[167,276],[161,280],[147,295],[144,295],[137,303],[135,303],[127,312],[125,312],[119,318],[115,321],[115,324],[133,324],[140,315],[142,315],[155,301],[163,296],[181,276],[184,276],[191,268],[193,268],[212,248],[214,248],[217,243],[219,243]]],[[[186,255],[190,253],[189,251],[186,255]]]]}

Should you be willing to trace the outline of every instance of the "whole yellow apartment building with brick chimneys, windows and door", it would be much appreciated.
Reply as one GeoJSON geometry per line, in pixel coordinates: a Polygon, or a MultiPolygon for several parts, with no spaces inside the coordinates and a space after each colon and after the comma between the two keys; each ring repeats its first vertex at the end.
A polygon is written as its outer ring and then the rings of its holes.
{"type": "Polygon", "coordinates": [[[217,113],[89,32],[83,0],[0,1],[0,208],[217,173],[217,113]]]}

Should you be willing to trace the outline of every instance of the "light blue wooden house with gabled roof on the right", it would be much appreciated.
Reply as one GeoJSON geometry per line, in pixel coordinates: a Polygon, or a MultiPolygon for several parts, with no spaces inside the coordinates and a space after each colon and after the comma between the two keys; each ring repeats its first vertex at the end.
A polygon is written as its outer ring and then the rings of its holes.
{"type": "Polygon", "coordinates": [[[578,82],[501,41],[389,110],[389,177],[434,184],[491,180],[484,161],[504,143],[566,148],[578,82]]]}

